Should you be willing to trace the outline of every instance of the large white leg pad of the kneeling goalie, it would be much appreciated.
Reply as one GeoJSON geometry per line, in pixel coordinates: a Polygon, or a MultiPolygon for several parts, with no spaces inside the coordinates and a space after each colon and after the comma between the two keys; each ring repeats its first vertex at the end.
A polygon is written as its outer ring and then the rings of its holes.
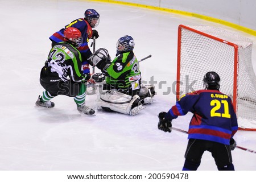
{"type": "Polygon", "coordinates": [[[144,106],[139,104],[138,95],[131,97],[117,92],[115,89],[100,92],[97,96],[96,105],[129,115],[136,115],[140,110],[144,109],[144,106]]]}

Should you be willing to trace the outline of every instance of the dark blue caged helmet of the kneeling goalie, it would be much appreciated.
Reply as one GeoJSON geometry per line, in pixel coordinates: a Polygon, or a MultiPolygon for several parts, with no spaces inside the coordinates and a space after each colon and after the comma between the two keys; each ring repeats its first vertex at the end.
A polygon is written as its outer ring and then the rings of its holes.
{"type": "Polygon", "coordinates": [[[129,52],[133,51],[135,44],[134,40],[131,36],[125,35],[122,36],[120,39],[117,41],[117,52],[129,52]]]}

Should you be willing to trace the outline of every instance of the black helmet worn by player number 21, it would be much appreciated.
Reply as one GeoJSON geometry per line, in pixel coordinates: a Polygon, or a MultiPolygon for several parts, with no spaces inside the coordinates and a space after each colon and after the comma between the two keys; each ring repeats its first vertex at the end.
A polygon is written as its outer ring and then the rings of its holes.
{"type": "Polygon", "coordinates": [[[216,72],[207,72],[204,76],[203,82],[205,89],[220,89],[220,76],[218,76],[216,72]]]}

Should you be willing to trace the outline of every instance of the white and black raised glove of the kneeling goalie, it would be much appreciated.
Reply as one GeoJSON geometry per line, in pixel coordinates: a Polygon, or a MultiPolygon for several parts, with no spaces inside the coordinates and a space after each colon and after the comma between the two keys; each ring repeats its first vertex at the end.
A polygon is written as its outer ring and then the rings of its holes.
{"type": "Polygon", "coordinates": [[[111,58],[109,56],[109,51],[104,48],[99,48],[95,53],[90,56],[90,62],[93,65],[96,65],[98,69],[104,71],[111,64],[111,58]]]}

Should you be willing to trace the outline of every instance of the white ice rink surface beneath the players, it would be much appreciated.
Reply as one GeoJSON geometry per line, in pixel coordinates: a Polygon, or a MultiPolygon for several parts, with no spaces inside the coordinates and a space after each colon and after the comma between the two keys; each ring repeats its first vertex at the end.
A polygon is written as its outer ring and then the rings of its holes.
{"type": "MultiPolygon", "coordinates": [[[[175,104],[179,24],[222,27],[252,39],[256,70],[256,38],[221,24],[108,3],[0,2],[0,170],[181,170],[187,135],[157,129],[158,113],[175,104]],[[96,109],[94,117],[79,114],[73,98],[66,96],[53,98],[53,109],[35,107],[43,92],[39,74],[51,48],[49,36],[83,18],[86,9],[100,13],[96,49],[106,48],[114,58],[118,38],[131,35],[138,59],[152,55],[140,67],[144,82],[157,82],[155,102],[134,117],[97,109],[95,94],[86,96],[86,105],[96,109]]],[[[179,117],[172,125],[188,130],[191,116],[179,117]]],[[[238,131],[234,139],[239,146],[256,150],[255,131],[238,131]]],[[[232,154],[236,170],[256,170],[255,154],[239,148],[232,154]]],[[[217,170],[209,152],[198,170],[217,170]]]]}

